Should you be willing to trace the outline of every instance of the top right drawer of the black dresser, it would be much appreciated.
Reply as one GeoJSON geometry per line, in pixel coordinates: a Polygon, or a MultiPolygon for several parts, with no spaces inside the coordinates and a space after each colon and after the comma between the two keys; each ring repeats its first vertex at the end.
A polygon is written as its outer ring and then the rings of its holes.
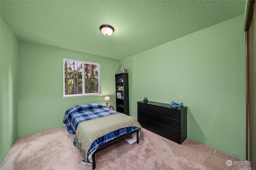
{"type": "Polygon", "coordinates": [[[170,117],[172,119],[180,120],[180,111],[179,110],[174,110],[174,109],[167,108],[167,107],[155,106],[155,113],[158,115],[165,116],[165,117],[170,117]]]}

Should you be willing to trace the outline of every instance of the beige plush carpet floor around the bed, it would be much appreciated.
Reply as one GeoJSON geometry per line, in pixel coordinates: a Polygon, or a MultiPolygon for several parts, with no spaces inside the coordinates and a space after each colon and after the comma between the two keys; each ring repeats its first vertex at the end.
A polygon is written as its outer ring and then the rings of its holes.
{"type": "MultiPolygon", "coordinates": [[[[1,170],[92,170],[83,165],[81,152],[73,145],[75,135],[66,128],[19,137],[3,160],[1,170]]],[[[96,154],[96,170],[250,170],[250,165],[232,164],[240,158],[186,139],[178,145],[144,129],[139,144],[120,141],[96,154]]]]}

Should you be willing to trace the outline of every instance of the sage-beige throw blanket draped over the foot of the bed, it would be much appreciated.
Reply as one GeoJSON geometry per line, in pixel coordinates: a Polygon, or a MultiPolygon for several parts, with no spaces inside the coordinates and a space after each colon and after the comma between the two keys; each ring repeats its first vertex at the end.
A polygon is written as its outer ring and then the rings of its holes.
{"type": "Polygon", "coordinates": [[[78,149],[81,150],[82,155],[87,160],[88,150],[96,139],[125,127],[139,127],[140,136],[142,137],[143,132],[140,123],[124,113],[107,115],[79,123],[76,129],[78,149]]]}

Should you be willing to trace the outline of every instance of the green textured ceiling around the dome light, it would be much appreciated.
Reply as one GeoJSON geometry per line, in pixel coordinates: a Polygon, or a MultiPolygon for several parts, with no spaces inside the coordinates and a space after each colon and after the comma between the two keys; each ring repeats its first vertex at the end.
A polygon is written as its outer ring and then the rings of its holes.
{"type": "Polygon", "coordinates": [[[1,17],[18,39],[124,59],[244,14],[244,0],[1,0],[1,17]],[[100,25],[115,29],[111,36],[100,25]]]}

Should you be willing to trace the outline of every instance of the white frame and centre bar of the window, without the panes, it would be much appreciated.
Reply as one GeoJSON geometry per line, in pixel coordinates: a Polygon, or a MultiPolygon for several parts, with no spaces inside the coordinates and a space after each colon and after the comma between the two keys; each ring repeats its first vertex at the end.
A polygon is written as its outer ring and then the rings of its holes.
{"type": "Polygon", "coordinates": [[[100,63],[91,63],[87,61],[78,61],[78,60],[72,60],[72,59],[63,59],[63,97],[62,98],[77,98],[77,97],[86,97],[86,96],[102,96],[100,93],[100,63]],[[82,63],[82,94],[65,94],[65,61],[73,61],[73,62],[79,62],[82,63]],[[84,64],[93,64],[93,65],[98,65],[98,93],[85,93],[84,89],[84,64]]]}

